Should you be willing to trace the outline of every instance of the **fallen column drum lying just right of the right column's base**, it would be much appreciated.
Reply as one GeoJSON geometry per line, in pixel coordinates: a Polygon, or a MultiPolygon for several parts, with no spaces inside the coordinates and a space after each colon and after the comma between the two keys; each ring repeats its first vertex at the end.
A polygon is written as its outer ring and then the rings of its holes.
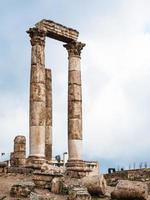
{"type": "Polygon", "coordinates": [[[82,179],[82,184],[87,187],[91,195],[104,195],[106,192],[106,180],[103,175],[86,176],[82,179]]]}

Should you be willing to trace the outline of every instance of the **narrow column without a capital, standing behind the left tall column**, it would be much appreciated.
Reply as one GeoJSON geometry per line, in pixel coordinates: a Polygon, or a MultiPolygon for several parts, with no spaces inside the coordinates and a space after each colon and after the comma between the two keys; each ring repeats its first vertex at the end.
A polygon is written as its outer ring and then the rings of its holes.
{"type": "Polygon", "coordinates": [[[46,125],[45,125],[45,158],[52,160],[52,75],[45,69],[46,89],[46,125]]]}

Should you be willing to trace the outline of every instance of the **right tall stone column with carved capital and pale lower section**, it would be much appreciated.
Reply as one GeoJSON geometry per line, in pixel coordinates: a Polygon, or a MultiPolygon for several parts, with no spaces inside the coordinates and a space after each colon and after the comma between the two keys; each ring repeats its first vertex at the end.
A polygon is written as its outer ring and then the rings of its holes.
{"type": "Polygon", "coordinates": [[[80,54],[85,44],[70,42],[68,50],[68,167],[82,163],[82,87],[80,54]]]}

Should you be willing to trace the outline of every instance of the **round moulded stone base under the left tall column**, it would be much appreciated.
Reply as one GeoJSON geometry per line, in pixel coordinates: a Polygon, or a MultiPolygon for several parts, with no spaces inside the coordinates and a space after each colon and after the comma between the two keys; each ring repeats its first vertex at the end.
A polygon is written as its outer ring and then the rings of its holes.
{"type": "Polygon", "coordinates": [[[33,169],[41,169],[41,166],[46,162],[44,157],[29,156],[26,161],[26,167],[33,169]]]}

